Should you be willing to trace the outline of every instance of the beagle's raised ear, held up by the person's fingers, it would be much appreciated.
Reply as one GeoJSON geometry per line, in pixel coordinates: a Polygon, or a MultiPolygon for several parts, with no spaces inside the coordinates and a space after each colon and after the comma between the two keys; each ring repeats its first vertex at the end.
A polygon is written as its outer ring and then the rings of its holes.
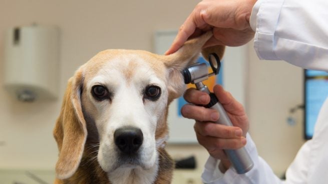
{"type": "Polygon", "coordinates": [[[169,100],[177,98],[184,92],[184,80],[181,71],[186,66],[194,63],[200,51],[206,60],[208,54],[215,52],[221,59],[224,53],[224,46],[216,45],[202,49],[205,42],[213,35],[212,31],[208,31],[199,37],[190,39],[175,53],[164,56],[164,64],[169,71],[168,88],[170,92],[169,100]]]}

